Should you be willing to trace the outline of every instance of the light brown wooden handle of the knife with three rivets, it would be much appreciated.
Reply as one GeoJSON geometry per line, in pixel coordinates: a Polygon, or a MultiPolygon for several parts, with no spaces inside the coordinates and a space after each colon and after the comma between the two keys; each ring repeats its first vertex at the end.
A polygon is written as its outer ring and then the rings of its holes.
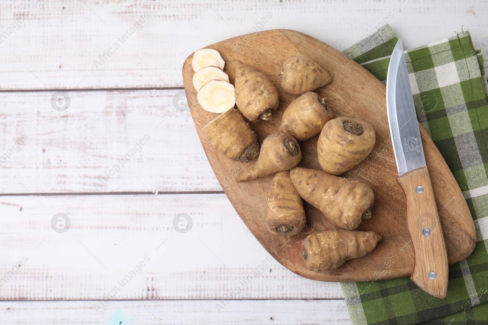
{"type": "Polygon", "coordinates": [[[398,183],[407,197],[407,229],[415,254],[411,279],[428,294],[446,298],[446,241],[427,166],[399,176],[398,183]]]}

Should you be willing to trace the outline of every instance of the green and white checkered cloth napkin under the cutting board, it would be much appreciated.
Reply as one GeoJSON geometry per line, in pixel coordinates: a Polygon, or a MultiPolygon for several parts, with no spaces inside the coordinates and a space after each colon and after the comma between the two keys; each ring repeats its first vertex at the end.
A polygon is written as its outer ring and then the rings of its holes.
{"type": "MultiPolygon", "coordinates": [[[[386,82],[397,38],[386,25],[344,51],[386,82]]],[[[342,283],[354,325],[488,324],[488,86],[483,57],[469,32],[406,51],[417,117],[463,190],[477,243],[449,267],[447,298],[410,278],[342,283]]]]}

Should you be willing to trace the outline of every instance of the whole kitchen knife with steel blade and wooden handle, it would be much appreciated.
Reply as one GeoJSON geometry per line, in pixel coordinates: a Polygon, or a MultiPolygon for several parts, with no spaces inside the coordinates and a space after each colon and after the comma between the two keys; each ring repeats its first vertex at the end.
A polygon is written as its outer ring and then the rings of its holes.
{"type": "Polygon", "coordinates": [[[403,43],[398,39],[388,65],[386,111],[398,183],[407,199],[407,229],[414,250],[411,279],[428,294],[445,298],[447,249],[415,113],[403,43]]]}

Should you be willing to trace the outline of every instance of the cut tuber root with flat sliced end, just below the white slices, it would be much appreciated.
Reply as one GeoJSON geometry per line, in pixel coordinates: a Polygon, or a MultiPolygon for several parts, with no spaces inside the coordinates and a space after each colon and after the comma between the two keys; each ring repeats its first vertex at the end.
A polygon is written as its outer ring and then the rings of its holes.
{"type": "Polygon", "coordinates": [[[248,162],[259,154],[256,134],[235,108],[205,125],[203,132],[212,146],[232,160],[248,162]]]}

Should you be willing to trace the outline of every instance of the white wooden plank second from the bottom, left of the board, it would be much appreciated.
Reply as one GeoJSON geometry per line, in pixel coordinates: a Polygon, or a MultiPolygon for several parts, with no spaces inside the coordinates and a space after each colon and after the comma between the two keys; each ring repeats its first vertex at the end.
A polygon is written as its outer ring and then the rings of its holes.
{"type": "Polygon", "coordinates": [[[272,259],[224,194],[3,196],[0,209],[0,300],[343,298],[272,259]]]}

